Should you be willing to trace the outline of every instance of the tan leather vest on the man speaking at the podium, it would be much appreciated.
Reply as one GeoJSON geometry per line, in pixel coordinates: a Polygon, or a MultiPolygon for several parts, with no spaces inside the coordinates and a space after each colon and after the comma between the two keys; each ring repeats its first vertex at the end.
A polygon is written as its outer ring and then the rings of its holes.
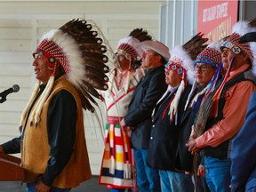
{"type": "MultiPolygon", "coordinates": [[[[89,158],[84,138],[84,118],[81,100],[78,92],[70,84],[65,76],[57,79],[52,87],[52,92],[44,103],[39,124],[27,124],[25,137],[21,143],[21,161],[26,170],[25,182],[38,180],[47,166],[50,156],[50,147],[47,134],[47,111],[52,102],[52,98],[60,90],[67,90],[76,100],[76,140],[74,152],[68,164],[60,172],[52,183],[55,188],[74,188],[84,180],[92,178],[89,158]]],[[[36,106],[36,105],[34,105],[36,106]]]]}

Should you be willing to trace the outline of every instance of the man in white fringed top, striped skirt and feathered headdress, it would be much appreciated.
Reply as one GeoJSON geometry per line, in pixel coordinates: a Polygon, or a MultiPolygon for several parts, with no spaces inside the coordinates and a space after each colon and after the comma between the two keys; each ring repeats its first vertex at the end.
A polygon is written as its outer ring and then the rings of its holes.
{"type": "Polygon", "coordinates": [[[132,182],[131,131],[120,129],[119,123],[126,115],[132,92],[142,77],[138,67],[143,51],[135,44],[150,39],[147,31],[136,28],[119,41],[114,58],[115,68],[108,75],[108,91],[102,92],[108,124],[99,183],[108,185],[111,191],[135,188],[132,182]]]}

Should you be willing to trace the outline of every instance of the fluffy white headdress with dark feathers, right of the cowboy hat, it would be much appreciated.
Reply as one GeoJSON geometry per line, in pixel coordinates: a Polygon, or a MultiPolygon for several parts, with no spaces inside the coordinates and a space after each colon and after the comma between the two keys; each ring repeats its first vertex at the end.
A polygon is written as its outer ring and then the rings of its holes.
{"type": "Polygon", "coordinates": [[[175,70],[178,74],[182,75],[181,83],[170,106],[169,113],[171,121],[176,115],[180,96],[187,86],[187,80],[189,84],[193,84],[194,60],[196,60],[196,56],[207,46],[205,42],[208,41],[208,39],[203,38],[203,36],[204,34],[198,33],[196,36],[193,36],[186,44],[183,44],[182,46],[176,46],[171,49],[171,58],[165,67],[175,70]]]}

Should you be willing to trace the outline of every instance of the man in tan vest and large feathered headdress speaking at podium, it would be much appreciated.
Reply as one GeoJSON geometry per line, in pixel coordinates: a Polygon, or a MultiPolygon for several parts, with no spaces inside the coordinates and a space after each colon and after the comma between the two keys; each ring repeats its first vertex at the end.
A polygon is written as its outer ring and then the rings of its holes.
{"type": "MultiPolygon", "coordinates": [[[[87,51],[87,41],[91,40],[93,53],[99,52],[106,60],[107,57],[100,53],[100,38],[95,40],[95,31],[91,29],[85,20],[71,20],[47,33],[33,54],[37,81],[21,116],[21,136],[4,143],[0,149],[6,154],[21,152],[28,192],[66,192],[92,177],[82,110],[93,111],[92,105],[85,104],[88,100],[83,95],[88,92],[82,93],[85,83],[89,87],[84,77],[90,79],[84,70],[92,64],[82,57],[82,52],[87,51]]],[[[92,52],[87,52],[87,58],[93,59],[92,52]]],[[[99,60],[98,69],[104,71],[105,67],[104,61],[99,60]]],[[[99,78],[104,73],[98,73],[99,78]]]]}

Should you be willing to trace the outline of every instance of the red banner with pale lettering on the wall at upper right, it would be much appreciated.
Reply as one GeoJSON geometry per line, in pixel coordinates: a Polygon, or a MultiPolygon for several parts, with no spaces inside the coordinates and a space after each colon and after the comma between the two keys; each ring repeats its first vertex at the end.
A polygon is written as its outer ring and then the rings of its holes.
{"type": "Polygon", "coordinates": [[[238,0],[198,0],[197,32],[209,38],[208,43],[228,36],[238,18],[238,0]]]}

